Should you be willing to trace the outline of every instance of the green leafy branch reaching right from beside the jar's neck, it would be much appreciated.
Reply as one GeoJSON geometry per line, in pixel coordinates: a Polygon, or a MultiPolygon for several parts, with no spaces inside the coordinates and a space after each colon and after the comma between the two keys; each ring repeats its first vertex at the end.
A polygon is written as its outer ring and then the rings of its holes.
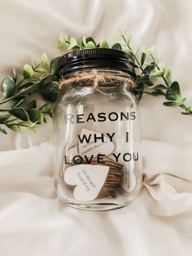
{"type": "Polygon", "coordinates": [[[124,32],[120,31],[119,36],[126,43],[126,46],[129,48],[129,54],[133,55],[133,58],[137,64],[137,68],[140,69],[141,73],[137,74],[137,95],[139,99],[142,99],[142,94],[146,93],[149,95],[164,95],[166,102],[164,105],[167,107],[181,107],[185,110],[184,113],[186,115],[192,115],[192,110],[190,106],[185,105],[185,98],[181,97],[181,89],[179,83],[177,81],[172,82],[171,77],[171,69],[170,68],[161,68],[158,62],[155,60],[155,56],[153,55],[153,47],[146,48],[142,51],[141,61],[137,59],[137,52],[134,53],[132,47],[130,46],[130,37],[126,39],[124,36],[124,32]],[[146,63],[146,57],[151,57],[152,62],[146,63]],[[146,68],[142,68],[143,65],[146,65],[146,68]],[[154,77],[161,77],[164,81],[160,84],[154,84],[154,77]],[[146,88],[149,91],[144,90],[146,88]]]}

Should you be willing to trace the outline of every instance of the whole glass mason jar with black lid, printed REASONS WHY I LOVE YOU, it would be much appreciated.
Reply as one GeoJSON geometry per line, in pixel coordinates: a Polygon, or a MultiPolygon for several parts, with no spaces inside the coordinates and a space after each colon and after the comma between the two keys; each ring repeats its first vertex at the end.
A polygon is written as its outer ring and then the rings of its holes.
{"type": "Polygon", "coordinates": [[[55,187],[67,205],[113,210],[142,187],[141,138],[132,56],[113,49],[59,60],[54,110],[55,187]]]}

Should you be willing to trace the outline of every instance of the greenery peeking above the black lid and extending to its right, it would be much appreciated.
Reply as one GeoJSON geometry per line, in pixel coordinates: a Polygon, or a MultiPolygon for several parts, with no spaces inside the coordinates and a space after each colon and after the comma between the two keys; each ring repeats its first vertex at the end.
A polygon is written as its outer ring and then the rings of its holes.
{"type": "MultiPolygon", "coordinates": [[[[142,99],[144,93],[153,96],[163,95],[166,99],[164,106],[172,108],[179,106],[184,110],[182,114],[192,115],[190,106],[185,104],[186,98],[181,96],[179,83],[177,81],[172,82],[171,68],[166,68],[164,64],[155,60],[154,47],[146,48],[142,53],[138,50],[133,51],[130,46],[130,36],[126,37],[123,30],[120,30],[117,36],[121,38],[122,42],[116,42],[111,48],[128,52],[129,55],[133,56],[136,63],[137,87],[133,92],[137,95],[137,98],[142,99]]],[[[58,46],[62,47],[64,45],[68,45],[68,51],[95,47],[109,48],[109,43],[104,38],[98,44],[96,44],[94,38],[85,38],[85,36],[77,42],[72,36],[65,37],[62,33],[59,37],[58,46]]]]}

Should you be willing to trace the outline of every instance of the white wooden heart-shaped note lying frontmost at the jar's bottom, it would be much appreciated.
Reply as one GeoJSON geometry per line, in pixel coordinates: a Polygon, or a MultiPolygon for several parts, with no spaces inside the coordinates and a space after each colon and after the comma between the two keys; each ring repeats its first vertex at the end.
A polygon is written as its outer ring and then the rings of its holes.
{"type": "Polygon", "coordinates": [[[97,198],[107,179],[109,166],[76,165],[64,172],[64,181],[76,186],[73,196],[76,200],[92,201],[97,198]]]}

